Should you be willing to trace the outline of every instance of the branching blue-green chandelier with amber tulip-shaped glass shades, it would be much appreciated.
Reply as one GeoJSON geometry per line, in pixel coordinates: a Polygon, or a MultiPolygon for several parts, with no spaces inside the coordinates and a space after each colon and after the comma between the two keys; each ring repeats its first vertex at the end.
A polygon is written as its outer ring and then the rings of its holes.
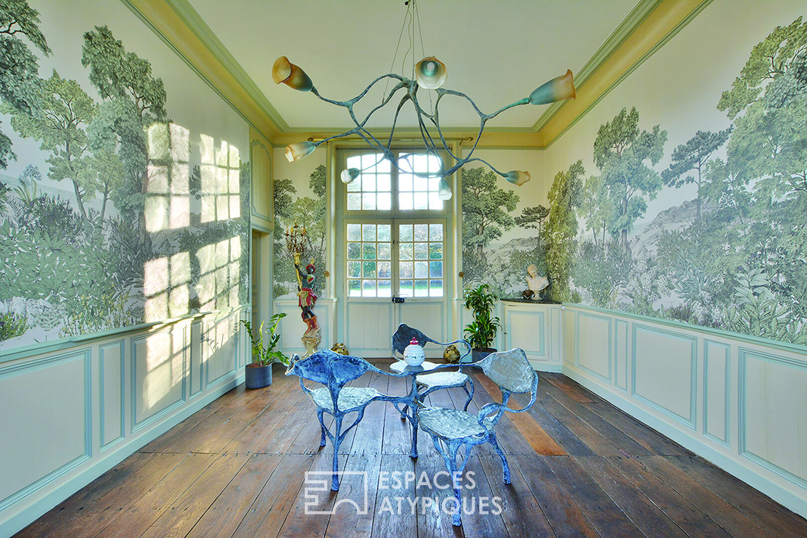
{"type": "MultiPolygon", "coordinates": [[[[408,2],[405,2],[407,6],[407,17],[403,21],[403,27],[406,27],[407,21],[409,21],[409,26],[412,29],[412,35],[410,36],[410,48],[412,48],[412,41],[414,41],[415,27],[417,27],[418,31],[420,31],[420,20],[417,18],[417,8],[415,6],[415,2],[416,0],[409,0],[408,2]],[[412,23],[414,23],[414,25],[412,23]]],[[[401,29],[401,35],[403,35],[403,28],[401,29]]],[[[422,49],[422,37],[420,46],[422,49]]],[[[397,56],[397,54],[398,50],[396,49],[395,56],[397,56]]],[[[404,56],[403,61],[405,63],[406,56],[404,56]]],[[[395,64],[395,57],[393,58],[393,64],[395,64]]],[[[403,77],[403,75],[396,73],[382,75],[381,77],[378,77],[374,81],[370,82],[370,85],[368,85],[366,89],[356,97],[349,99],[348,101],[334,101],[320,95],[320,92],[316,90],[316,87],[314,87],[311,78],[308,77],[303,69],[300,69],[297,65],[292,64],[288,58],[286,58],[286,56],[280,56],[277,60],[275,60],[272,68],[272,78],[276,84],[283,82],[295,90],[310,91],[312,94],[316,95],[316,97],[325,102],[329,102],[332,105],[344,106],[350,115],[350,119],[352,119],[353,123],[355,124],[355,127],[349,131],[345,131],[338,135],[329,136],[323,140],[305,140],[303,142],[297,142],[295,144],[286,146],[286,159],[288,159],[289,162],[299,161],[304,156],[307,156],[313,152],[320,144],[324,144],[329,140],[353,135],[359,136],[362,140],[369,144],[371,148],[381,152],[383,154],[383,158],[390,161],[391,165],[395,166],[395,168],[400,172],[414,174],[418,177],[440,177],[439,195],[440,198],[444,200],[451,198],[451,188],[448,181],[445,181],[445,177],[450,176],[452,173],[460,169],[462,165],[466,165],[472,161],[483,162],[485,165],[489,166],[491,170],[504,177],[504,179],[507,181],[515,184],[516,186],[521,186],[526,181],[529,181],[528,172],[521,170],[512,170],[507,173],[500,172],[500,170],[495,169],[495,167],[493,167],[487,161],[473,156],[476,145],[479,144],[479,137],[482,136],[482,132],[485,129],[485,123],[487,123],[488,120],[495,118],[497,115],[500,115],[502,112],[512,108],[513,106],[527,104],[545,105],[550,102],[575,98],[575,85],[574,81],[572,80],[571,70],[567,70],[565,75],[555,77],[552,80],[538,86],[538,88],[534,90],[532,94],[529,94],[529,97],[525,97],[516,102],[512,102],[509,105],[502,106],[498,111],[491,114],[485,114],[483,111],[479,110],[479,107],[476,106],[475,102],[473,102],[473,100],[466,94],[455,90],[445,90],[442,88],[442,85],[445,84],[447,73],[445,65],[440,60],[437,60],[436,57],[428,56],[416,64],[413,63],[412,72],[412,78],[403,77]],[[392,79],[398,81],[398,83],[390,90],[388,94],[385,90],[385,95],[381,104],[375,106],[363,119],[358,119],[356,114],[353,112],[353,106],[364,98],[375,84],[385,79],[387,79],[387,82],[392,79]],[[430,113],[425,111],[424,108],[420,106],[417,96],[419,89],[434,90],[434,92],[437,94],[437,98],[434,101],[434,105],[430,113]],[[395,119],[392,122],[390,134],[386,140],[378,140],[370,133],[370,131],[367,130],[365,126],[370,120],[370,117],[376,111],[383,108],[383,106],[386,106],[399,90],[405,90],[405,94],[401,96],[401,99],[398,102],[398,107],[395,111],[395,119]],[[470,102],[470,106],[473,106],[474,110],[479,115],[479,134],[476,136],[474,146],[470,148],[470,151],[464,157],[461,155],[454,155],[454,153],[451,152],[449,144],[446,142],[445,136],[441,131],[438,106],[440,105],[440,100],[446,95],[453,95],[458,98],[466,99],[468,102],[470,102]],[[399,160],[406,159],[411,154],[399,155],[396,157],[395,153],[391,150],[392,143],[395,140],[395,123],[397,123],[400,111],[407,102],[412,102],[412,105],[415,108],[417,124],[420,128],[420,136],[423,139],[426,153],[437,157],[440,163],[437,172],[417,173],[412,172],[410,169],[402,169],[399,165],[399,160]],[[431,128],[432,131],[429,131],[429,128],[431,128]],[[443,161],[440,151],[438,150],[443,150],[449,156],[451,156],[451,158],[454,159],[454,165],[446,168],[445,162],[443,161]]],[[[362,171],[363,170],[356,168],[345,169],[341,172],[341,181],[350,183],[356,179],[362,173],[362,171]]]]}

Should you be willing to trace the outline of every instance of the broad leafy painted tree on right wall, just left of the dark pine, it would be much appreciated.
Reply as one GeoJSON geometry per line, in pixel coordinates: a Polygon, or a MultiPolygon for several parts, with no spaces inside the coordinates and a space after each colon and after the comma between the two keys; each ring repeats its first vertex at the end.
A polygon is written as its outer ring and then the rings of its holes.
{"type": "Polygon", "coordinates": [[[652,131],[640,131],[638,125],[636,107],[630,112],[623,108],[600,126],[594,141],[594,164],[600,169],[600,180],[608,188],[613,206],[608,230],[628,253],[628,233],[647,211],[645,197],[654,199],[663,186],[652,166],[661,160],[667,142],[667,131],[658,125],[652,131]]]}

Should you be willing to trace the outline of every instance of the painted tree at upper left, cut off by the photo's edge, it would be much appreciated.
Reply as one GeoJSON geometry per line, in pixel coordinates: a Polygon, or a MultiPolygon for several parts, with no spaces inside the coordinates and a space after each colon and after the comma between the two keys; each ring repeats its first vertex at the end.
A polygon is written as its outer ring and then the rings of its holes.
{"type": "MultiPolygon", "coordinates": [[[[23,35],[45,56],[51,54],[39,28],[40,14],[25,0],[4,0],[0,4],[0,100],[11,110],[39,118],[39,65],[36,56],[20,39],[23,35]]],[[[11,140],[0,131],[0,169],[16,159],[11,140]]]]}

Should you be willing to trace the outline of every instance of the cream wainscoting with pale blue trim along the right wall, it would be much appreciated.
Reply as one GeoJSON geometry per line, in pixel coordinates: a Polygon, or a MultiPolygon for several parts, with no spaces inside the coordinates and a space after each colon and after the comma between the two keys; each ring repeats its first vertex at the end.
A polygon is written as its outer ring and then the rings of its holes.
{"type": "Polygon", "coordinates": [[[807,516],[807,348],[582,305],[503,302],[505,347],[807,516]]]}

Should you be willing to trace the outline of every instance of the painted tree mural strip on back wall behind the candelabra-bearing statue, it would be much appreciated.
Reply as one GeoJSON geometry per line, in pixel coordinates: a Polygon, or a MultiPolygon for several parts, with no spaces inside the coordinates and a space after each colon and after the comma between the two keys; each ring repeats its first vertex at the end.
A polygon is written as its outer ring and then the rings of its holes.
{"type": "Polygon", "coordinates": [[[305,265],[314,259],[316,280],[314,292],[322,294],[325,281],[322,274],[325,267],[325,239],[328,210],[325,206],[325,166],[319,165],[308,178],[308,188],[316,196],[300,196],[295,198],[297,188],[291,179],[274,181],[274,298],[283,295],[297,294],[297,275],[294,258],[286,249],[283,232],[295,222],[306,227],[308,234],[307,252],[300,260],[305,265]]]}

